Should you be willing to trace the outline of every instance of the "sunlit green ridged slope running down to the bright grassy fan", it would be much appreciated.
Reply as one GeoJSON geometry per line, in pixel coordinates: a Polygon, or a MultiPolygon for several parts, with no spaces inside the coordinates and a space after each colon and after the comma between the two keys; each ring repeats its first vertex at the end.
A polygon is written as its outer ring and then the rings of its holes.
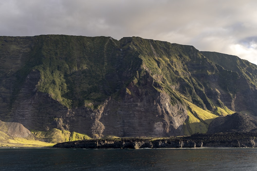
{"type": "MultiPolygon", "coordinates": [[[[144,68],[140,74],[137,72],[136,77],[139,81],[136,80],[135,83],[140,85],[140,80],[147,71],[154,79],[153,82],[156,83],[153,86],[157,85],[155,88],[159,92],[168,93],[171,103],[178,101],[188,106],[188,119],[184,123],[185,135],[197,132],[206,133],[208,125],[214,118],[234,113],[226,106],[215,106],[212,99],[206,96],[205,89],[209,88],[209,83],[203,79],[203,76],[216,75],[218,71],[215,64],[201,55],[194,47],[139,37],[131,39],[130,47],[140,53],[139,57],[142,59],[144,68]],[[186,54],[186,48],[191,48],[194,53],[186,54]],[[194,61],[194,68],[191,68],[193,65],[185,65],[190,61],[194,61]],[[191,74],[194,77],[191,77],[191,74]],[[199,81],[200,78],[201,81],[199,81]],[[177,88],[177,84],[180,85],[179,88],[177,88]]],[[[229,94],[231,93],[229,92],[229,94]]]]}

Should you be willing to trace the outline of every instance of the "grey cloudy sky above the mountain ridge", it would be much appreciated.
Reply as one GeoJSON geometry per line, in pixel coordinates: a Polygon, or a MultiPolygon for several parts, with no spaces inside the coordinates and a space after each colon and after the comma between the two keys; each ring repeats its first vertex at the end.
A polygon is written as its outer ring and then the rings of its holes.
{"type": "Polygon", "coordinates": [[[256,9],[256,0],[0,0],[0,36],[139,36],[257,64],[256,9]]]}

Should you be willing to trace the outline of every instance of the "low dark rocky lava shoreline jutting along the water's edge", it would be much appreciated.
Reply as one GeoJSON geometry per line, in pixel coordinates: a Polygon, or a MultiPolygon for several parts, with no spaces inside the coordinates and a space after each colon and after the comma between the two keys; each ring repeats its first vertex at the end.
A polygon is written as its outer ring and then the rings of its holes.
{"type": "Polygon", "coordinates": [[[93,139],[58,143],[53,148],[240,148],[257,147],[256,133],[193,134],[181,137],[93,139]]]}

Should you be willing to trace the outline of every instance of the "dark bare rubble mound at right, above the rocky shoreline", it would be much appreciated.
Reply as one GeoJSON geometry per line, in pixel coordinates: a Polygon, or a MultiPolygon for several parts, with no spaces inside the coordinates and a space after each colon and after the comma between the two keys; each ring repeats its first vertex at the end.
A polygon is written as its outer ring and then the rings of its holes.
{"type": "Polygon", "coordinates": [[[220,132],[257,132],[257,120],[240,113],[217,117],[210,123],[207,133],[220,132]]]}

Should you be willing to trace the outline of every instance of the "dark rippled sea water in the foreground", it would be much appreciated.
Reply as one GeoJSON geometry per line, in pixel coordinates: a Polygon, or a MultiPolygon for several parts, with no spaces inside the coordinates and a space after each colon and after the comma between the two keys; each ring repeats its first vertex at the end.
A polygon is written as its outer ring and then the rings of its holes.
{"type": "Polygon", "coordinates": [[[0,148],[0,170],[257,170],[257,148],[0,148]]]}

